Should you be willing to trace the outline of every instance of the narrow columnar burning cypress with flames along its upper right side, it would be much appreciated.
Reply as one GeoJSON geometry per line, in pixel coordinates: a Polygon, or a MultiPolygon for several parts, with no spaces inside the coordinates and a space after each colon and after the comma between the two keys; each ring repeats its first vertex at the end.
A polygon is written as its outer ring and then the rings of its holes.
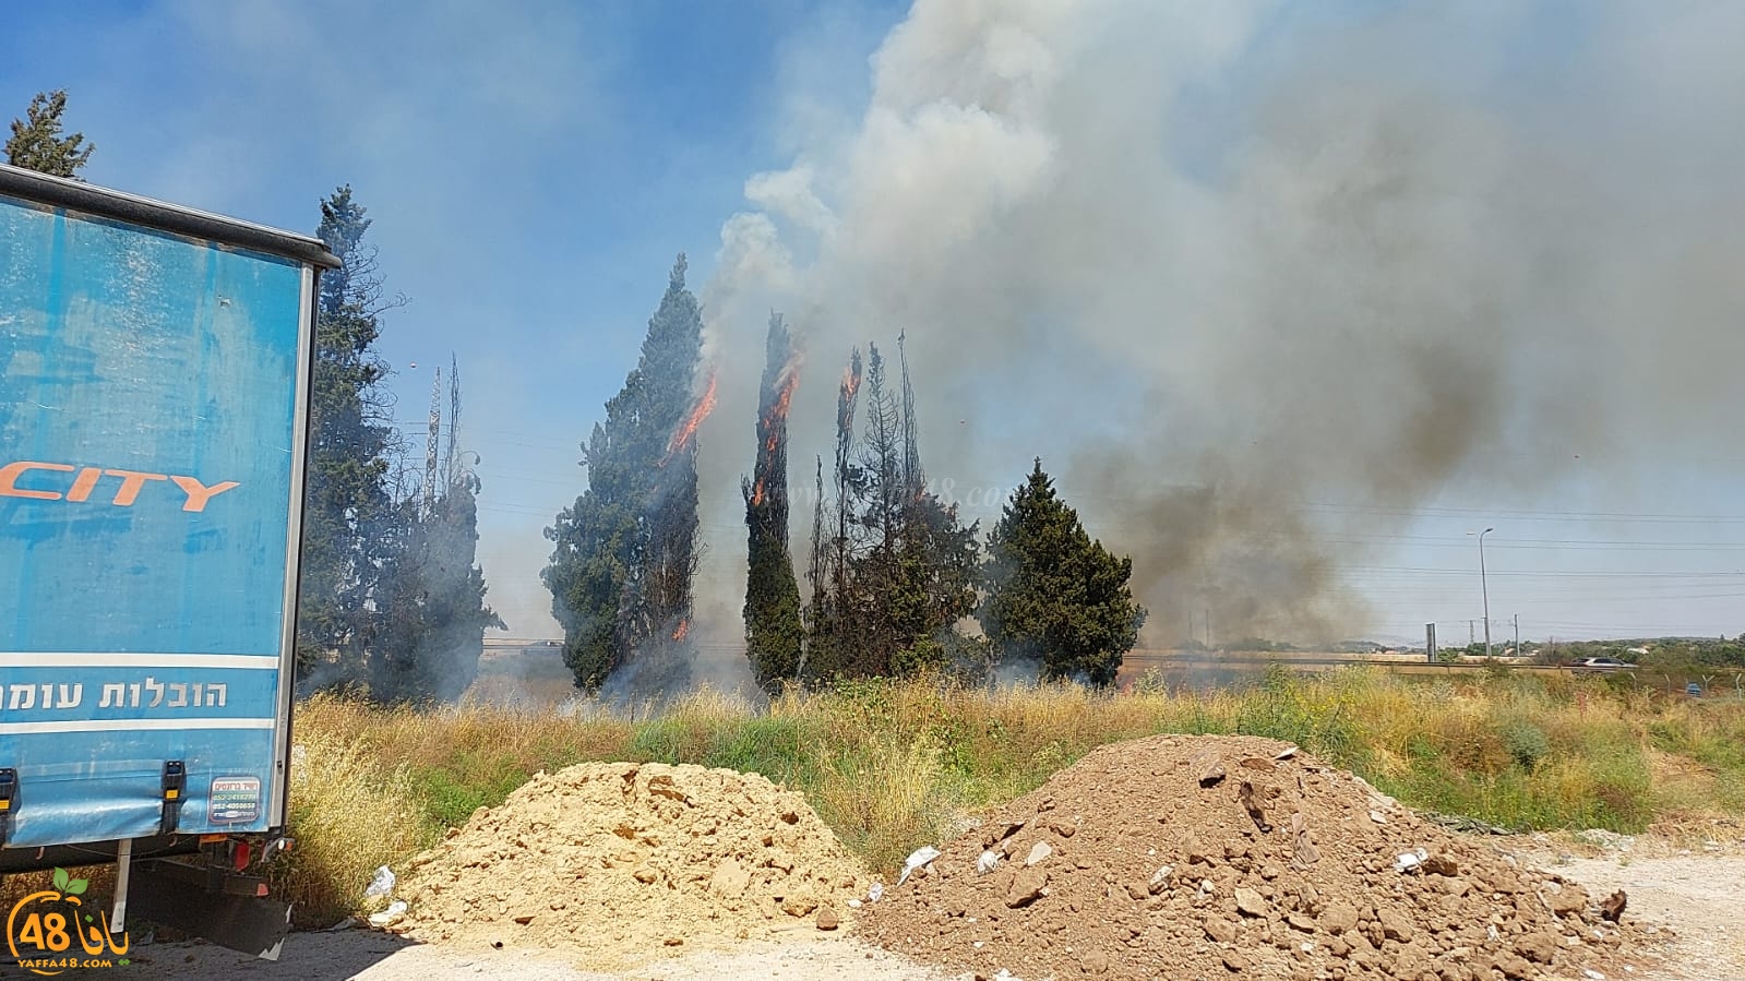
{"type": "Polygon", "coordinates": [[[771,314],[757,403],[757,463],[752,477],[740,482],[749,538],[745,656],[757,684],[771,691],[782,679],[799,676],[804,641],[799,583],[787,548],[787,412],[797,386],[799,351],[782,314],[771,314]]]}

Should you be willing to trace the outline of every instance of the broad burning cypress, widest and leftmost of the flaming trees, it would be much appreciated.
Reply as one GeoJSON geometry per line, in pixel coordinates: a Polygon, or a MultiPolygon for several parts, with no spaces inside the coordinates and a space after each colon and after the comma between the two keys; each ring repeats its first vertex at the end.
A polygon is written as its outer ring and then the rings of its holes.
{"type": "Polygon", "coordinates": [[[630,669],[630,689],[689,677],[696,429],[715,405],[715,379],[701,372],[701,307],[684,271],[681,253],[640,361],[583,447],[588,489],[546,529],[555,550],[543,580],[564,660],[588,691],[619,669],[630,669]]]}

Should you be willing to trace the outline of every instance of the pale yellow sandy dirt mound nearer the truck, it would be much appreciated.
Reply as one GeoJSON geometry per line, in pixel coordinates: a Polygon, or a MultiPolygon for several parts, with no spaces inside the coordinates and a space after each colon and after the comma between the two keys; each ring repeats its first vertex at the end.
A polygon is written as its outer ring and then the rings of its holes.
{"type": "Polygon", "coordinates": [[[630,962],[818,929],[864,895],[806,799],[757,773],[590,763],[539,773],[410,864],[396,932],[630,962]]]}

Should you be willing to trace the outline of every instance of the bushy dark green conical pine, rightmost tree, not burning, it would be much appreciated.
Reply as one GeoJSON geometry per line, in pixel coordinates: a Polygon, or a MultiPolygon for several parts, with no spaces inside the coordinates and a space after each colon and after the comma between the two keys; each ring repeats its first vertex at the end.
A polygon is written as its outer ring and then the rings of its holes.
{"type": "Polygon", "coordinates": [[[988,536],[981,623],[1000,660],[1037,662],[1044,679],[1112,684],[1145,625],[1133,560],[1092,541],[1042,461],[988,536]]]}

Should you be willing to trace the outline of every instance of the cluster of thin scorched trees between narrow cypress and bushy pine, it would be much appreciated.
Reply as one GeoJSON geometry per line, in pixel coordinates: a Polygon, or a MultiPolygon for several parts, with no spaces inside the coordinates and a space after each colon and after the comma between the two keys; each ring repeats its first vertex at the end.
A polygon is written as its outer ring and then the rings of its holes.
{"type": "MultiPolygon", "coordinates": [[[[902,346],[902,339],[899,339],[902,346]]],[[[836,529],[813,527],[813,600],[806,646],[811,677],[909,676],[944,667],[960,646],[953,625],[975,607],[977,525],[927,492],[907,356],[900,400],[885,358],[867,346],[850,358],[836,414],[836,529]],[[853,436],[862,381],[866,426],[853,436]]]]}

